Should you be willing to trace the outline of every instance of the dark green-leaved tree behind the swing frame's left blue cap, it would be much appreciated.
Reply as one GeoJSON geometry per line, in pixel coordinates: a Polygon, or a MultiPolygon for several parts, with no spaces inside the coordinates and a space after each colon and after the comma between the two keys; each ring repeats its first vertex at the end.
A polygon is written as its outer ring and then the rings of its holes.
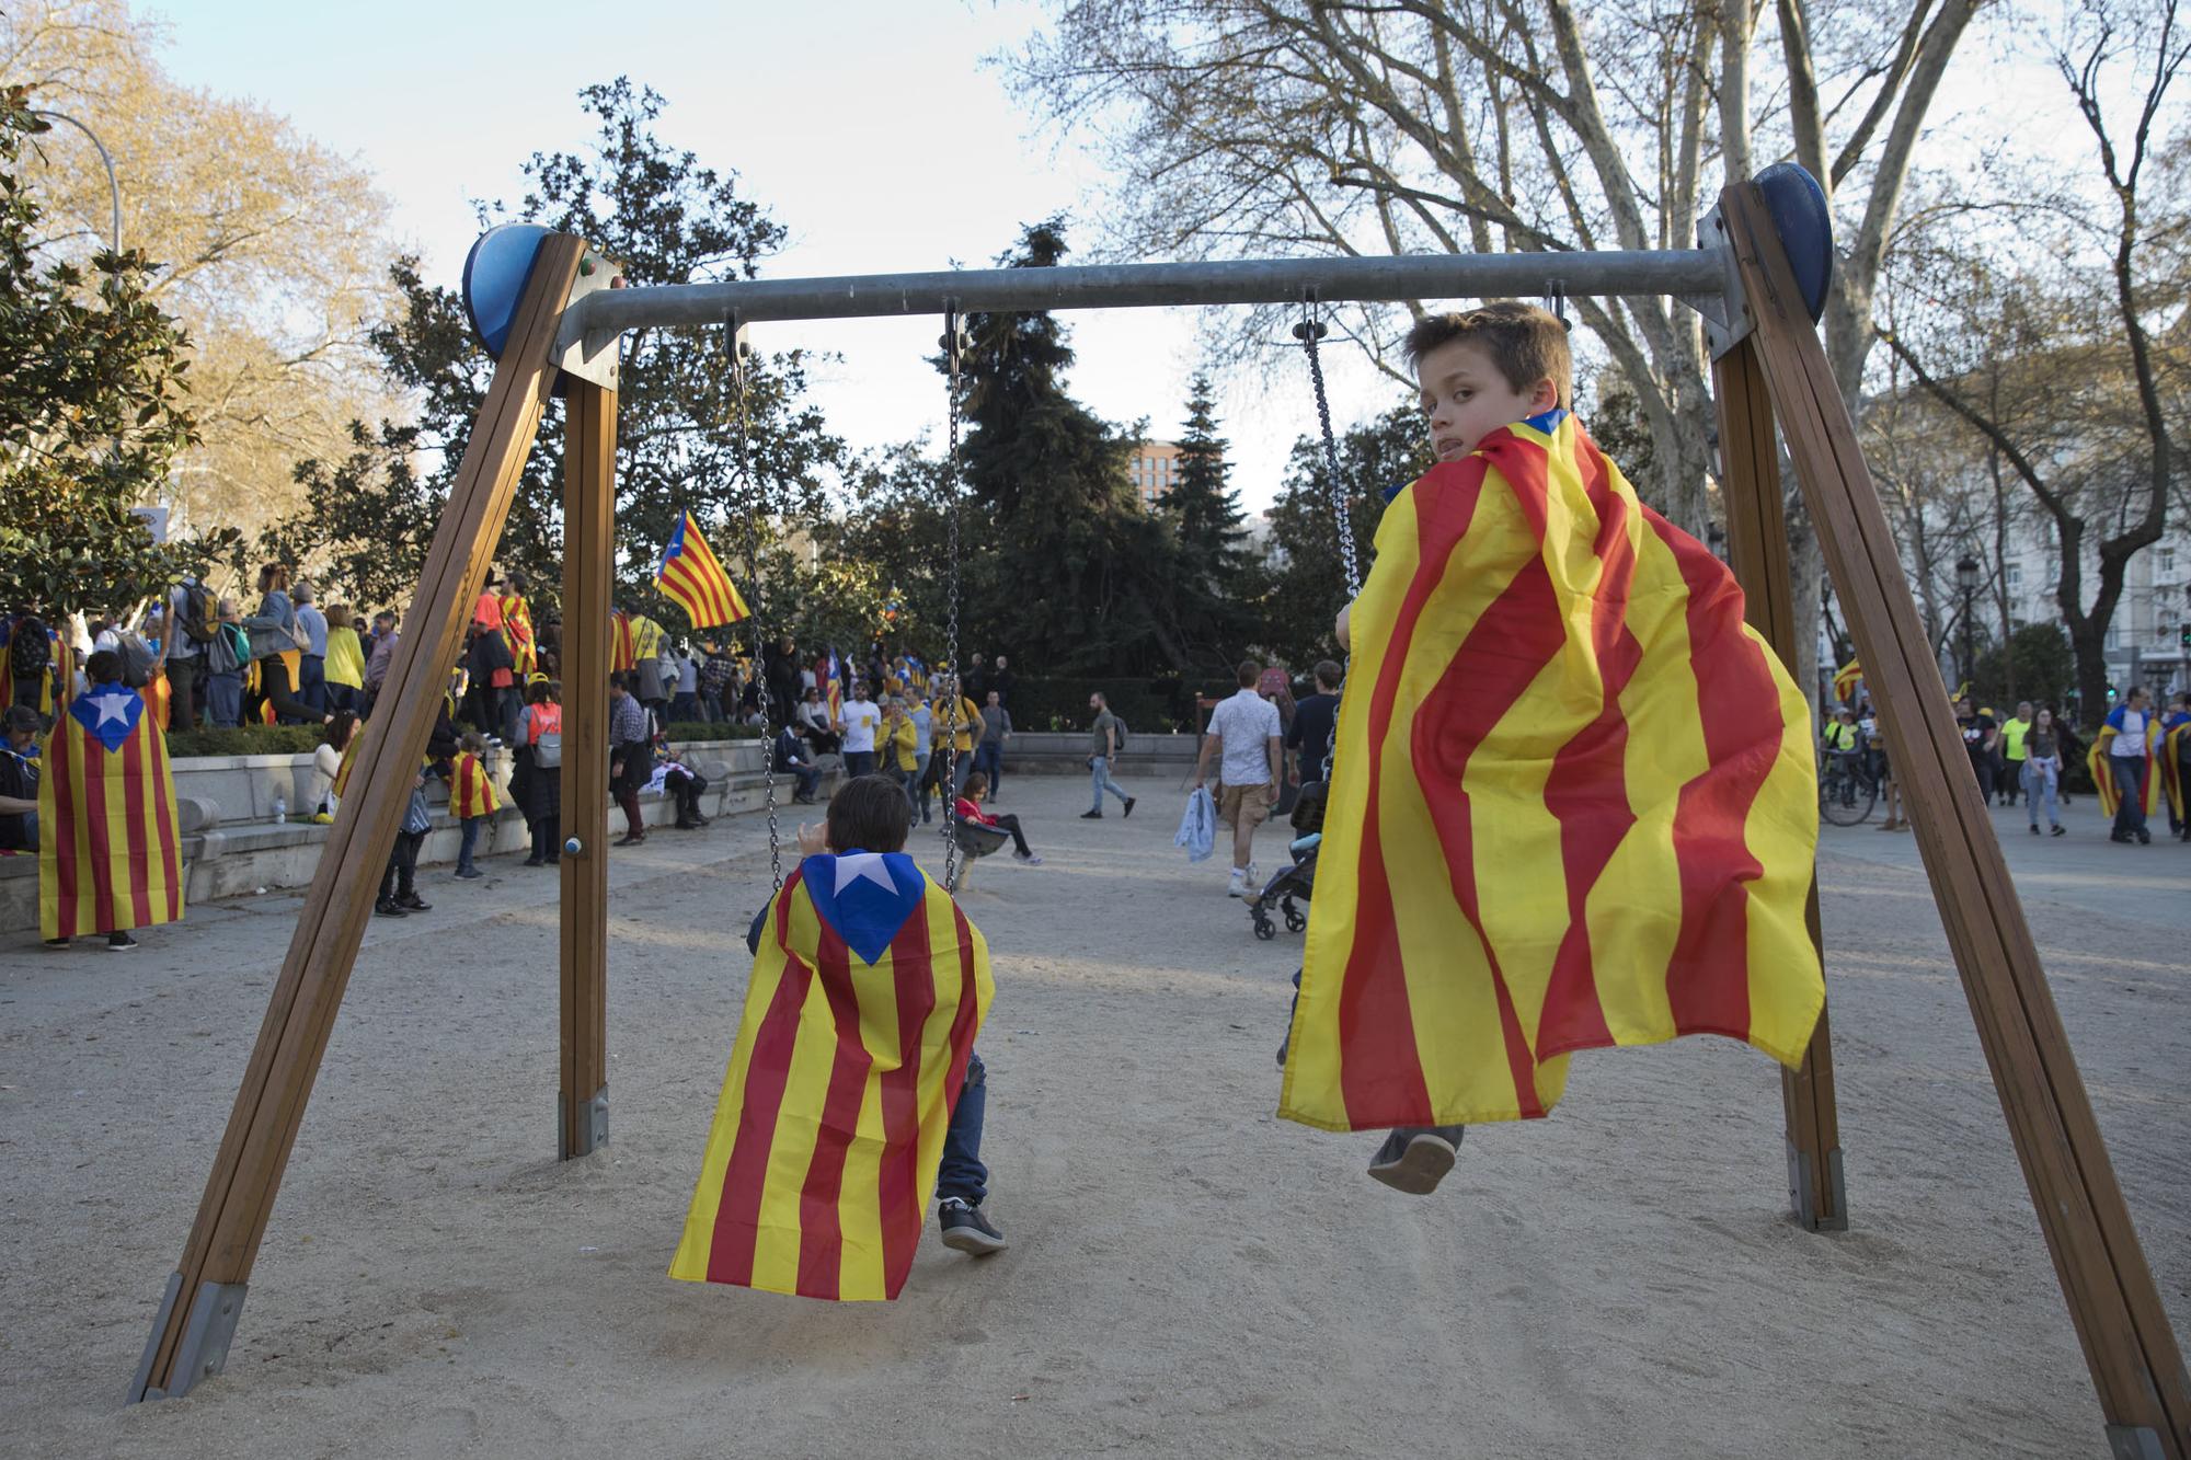
{"type": "MultiPolygon", "coordinates": [[[[736,189],[736,178],[664,145],[653,123],[664,101],[629,79],[581,92],[596,123],[585,153],[535,153],[530,191],[515,208],[482,206],[480,224],[524,219],[589,239],[633,285],[752,278],[784,237],[782,226],[736,189]]],[[[432,537],[440,502],[462,458],[493,377],[454,289],[425,283],[414,261],[392,270],[397,311],[375,327],[388,379],[416,401],[414,423],[383,421],[353,432],[342,458],[307,460],[305,513],[267,537],[269,546],[324,541],[351,563],[346,585],[375,579],[357,563],[381,555],[408,590],[432,537]],[[414,478],[412,460],[432,465],[414,478]]],[[[741,403],[723,331],[635,331],[624,340],[618,386],[616,585],[620,603],[664,623],[679,612],[653,588],[655,557],[679,513],[690,511],[734,579],[749,581],[784,533],[822,511],[822,471],[844,449],[802,399],[800,353],[747,357],[741,403]],[[752,480],[741,476],[741,434],[752,480]]],[[[550,410],[511,502],[497,561],[532,581],[552,603],[563,563],[563,417],[550,410]]],[[[765,605],[778,603],[767,590],[765,605]]],[[[762,609],[767,614],[767,607],[762,609]]],[[[773,625],[756,625],[773,634],[773,625]]]]}

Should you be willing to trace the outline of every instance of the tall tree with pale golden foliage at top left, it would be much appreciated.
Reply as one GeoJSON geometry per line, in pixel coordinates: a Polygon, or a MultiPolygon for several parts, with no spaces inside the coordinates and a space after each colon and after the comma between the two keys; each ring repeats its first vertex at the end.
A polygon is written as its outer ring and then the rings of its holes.
{"type": "MultiPolygon", "coordinates": [[[[289,465],[337,456],[348,421],[397,410],[366,327],[388,296],[388,202],[364,167],[285,118],[180,85],[160,26],[125,0],[22,0],[0,13],[0,81],[112,149],[129,248],[160,259],[147,296],[188,333],[197,441],[158,493],[171,531],[256,533],[298,500],[289,465]]],[[[88,263],[110,239],[107,173],[72,127],[22,175],[42,243],[88,263]]]]}

